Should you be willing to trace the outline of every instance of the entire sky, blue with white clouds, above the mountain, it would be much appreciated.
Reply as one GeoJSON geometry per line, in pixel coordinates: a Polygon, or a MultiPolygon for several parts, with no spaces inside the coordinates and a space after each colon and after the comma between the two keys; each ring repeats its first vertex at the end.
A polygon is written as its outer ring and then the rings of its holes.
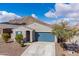
{"type": "Polygon", "coordinates": [[[79,3],[0,3],[0,22],[32,16],[47,23],[79,23],[79,3]]]}

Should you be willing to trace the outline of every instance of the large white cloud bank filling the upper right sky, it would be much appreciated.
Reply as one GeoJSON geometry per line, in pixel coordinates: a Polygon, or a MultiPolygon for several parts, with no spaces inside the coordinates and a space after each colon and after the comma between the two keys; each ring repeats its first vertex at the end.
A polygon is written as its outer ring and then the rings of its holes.
{"type": "MultiPolygon", "coordinates": [[[[70,4],[57,3],[55,4],[55,12],[51,11],[51,15],[52,14],[56,15],[57,19],[59,20],[62,18],[63,20],[78,23],[79,22],[79,3],[70,3],[70,4]]],[[[52,16],[49,18],[53,18],[53,17],[55,16],[52,16]]]]}

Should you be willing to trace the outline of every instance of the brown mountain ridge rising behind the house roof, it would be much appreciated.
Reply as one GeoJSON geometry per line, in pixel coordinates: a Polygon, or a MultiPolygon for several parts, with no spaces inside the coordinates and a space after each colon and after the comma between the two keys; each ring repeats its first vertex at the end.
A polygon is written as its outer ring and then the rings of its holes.
{"type": "Polygon", "coordinates": [[[21,20],[11,20],[9,22],[10,23],[19,23],[19,24],[25,23],[26,25],[32,24],[34,22],[37,22],[37,23],[43,24],[45,26],[52,27],[51,24],[47,24],[47,23],[45,23],[43,21],[40,21],[38,19],[35,19],[35,18],[31,17],[31,16],[23,17],[21,20]]]}

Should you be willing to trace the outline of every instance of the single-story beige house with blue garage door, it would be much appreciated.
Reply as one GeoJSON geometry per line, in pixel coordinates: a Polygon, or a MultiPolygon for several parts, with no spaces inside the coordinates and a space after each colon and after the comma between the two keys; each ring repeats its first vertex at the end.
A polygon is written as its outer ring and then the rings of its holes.
{"type": "Polygon", "coordinates": [[[16,34],[22,34],[29,42],[33,41],[55,41],[55,36],[51,33],[52,28],[40,23],[33,23],[30,25],[19,26],[12,29],[13,33],[11,38],[15,41],[16,34]]]}

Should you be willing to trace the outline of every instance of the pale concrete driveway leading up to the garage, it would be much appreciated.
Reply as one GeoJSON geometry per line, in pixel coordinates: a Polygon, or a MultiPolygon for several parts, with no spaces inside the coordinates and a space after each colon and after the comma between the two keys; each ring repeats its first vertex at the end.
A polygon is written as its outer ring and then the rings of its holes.
{"type": "Polygon", "coordinates": [[[55,43],[34,42],[21,56],[55,56],[55,43]]]}

